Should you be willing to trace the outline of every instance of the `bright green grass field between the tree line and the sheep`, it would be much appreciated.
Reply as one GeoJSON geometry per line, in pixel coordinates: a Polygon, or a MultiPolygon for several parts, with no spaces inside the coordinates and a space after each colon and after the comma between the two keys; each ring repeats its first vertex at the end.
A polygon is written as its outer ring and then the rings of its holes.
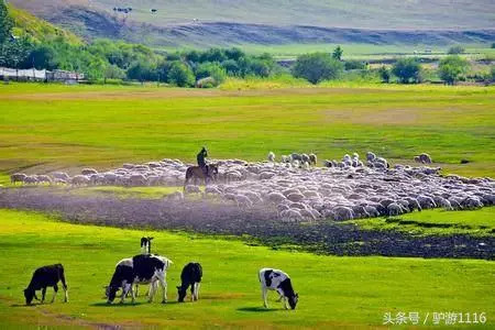
{"type": "Polygon", "coordinates": [[[0,86],[0,173],[109,168],[164,157],[320,160],[428,152],[446,173],[495,176],[493,87],[361,86],[237,90],[0,86]],[[471,163],[460,165],[462,158],[471,163]]]}

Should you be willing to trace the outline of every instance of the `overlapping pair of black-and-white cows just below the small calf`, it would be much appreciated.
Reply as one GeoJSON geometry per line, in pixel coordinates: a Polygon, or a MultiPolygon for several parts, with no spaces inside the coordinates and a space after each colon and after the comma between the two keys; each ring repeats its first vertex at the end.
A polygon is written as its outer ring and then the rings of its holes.
{"type": "Polygon", "coordinates": [[[132,257],[132,264],[118,264],[108,287],[107,302],[111,304],[116,299],[117,292],[120,288],[122,288],[120,302],[122,304],[124,301],[129,292],[131,293],[132,302],[134,302],[134,284],[150,284],[148,302],[152,302],[158,283],[162,285],[162,302],[166,302],[166,271],[170,264],[172,261],[168,258],[155,254],[139,254],[132,257]]]}

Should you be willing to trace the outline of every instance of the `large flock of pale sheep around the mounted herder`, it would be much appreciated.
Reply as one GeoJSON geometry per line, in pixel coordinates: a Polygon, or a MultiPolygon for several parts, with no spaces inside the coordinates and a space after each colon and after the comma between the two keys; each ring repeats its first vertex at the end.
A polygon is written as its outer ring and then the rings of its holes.
{"type": "MultiPolygon", "coordinates": [[[[323,167],[314,154],[292,154],[280,157],[268,154],[268,161],[249,163],[241,160],[210,161],[220,172],[202,190],[188,185],[183,191],[168,195],[169,200],[184,200],[189,194],[200,194],[212,202],[235,204],[241,208],[267,207],[277,210],[285,221],[336,221],[398,216],[430,208],[447,210],[475,209],[495,204],[495,182],[491,178],[442,176],[440,168],[429,167],[431,157],[421,154],[415,160],[421,165],[391,166],[387,160],[369,152],[364,160],[354,153],[341,161],[324,161],[323,167]]],[[[179,186],[188,164],[163,160],[143,165],[124,164],[122,168],[98,173],[84,169],[69,177],[14,174],[12,182],[62,183],[72,185],[179,186]]],[[[182,190],[182,189],[180,189],[182,190]]]]}

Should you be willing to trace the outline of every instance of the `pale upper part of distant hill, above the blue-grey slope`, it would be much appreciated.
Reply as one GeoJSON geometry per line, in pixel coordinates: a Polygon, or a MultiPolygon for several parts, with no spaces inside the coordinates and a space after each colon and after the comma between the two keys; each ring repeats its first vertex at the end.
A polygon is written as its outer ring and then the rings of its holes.
{"type": "Polygon", "coordinates": [[[79,6],[114,14],[113,8],[132,8],[116,14],[155,26],[199,22],[268,25],[311,25],[356,29],[487,29],[494,28],[492,0],[12,0],[45,18],[79,6]],[[155,13],[151,10],[156,9],[155,13]]]}

